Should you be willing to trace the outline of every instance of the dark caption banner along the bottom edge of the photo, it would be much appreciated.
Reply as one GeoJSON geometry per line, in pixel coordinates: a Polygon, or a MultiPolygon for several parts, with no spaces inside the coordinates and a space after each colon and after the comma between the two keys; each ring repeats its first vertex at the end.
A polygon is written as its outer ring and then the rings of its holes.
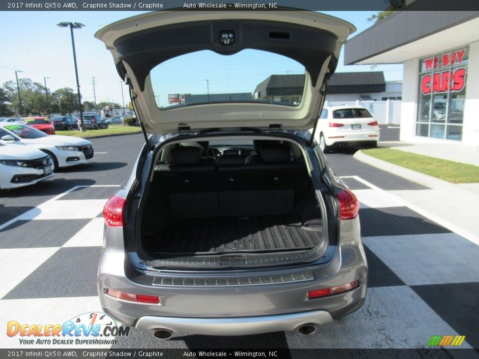
{"type": "Polygon", "coordinates": [[[0,358],[479,359],[474,349],[0,349],[0,358]]]}

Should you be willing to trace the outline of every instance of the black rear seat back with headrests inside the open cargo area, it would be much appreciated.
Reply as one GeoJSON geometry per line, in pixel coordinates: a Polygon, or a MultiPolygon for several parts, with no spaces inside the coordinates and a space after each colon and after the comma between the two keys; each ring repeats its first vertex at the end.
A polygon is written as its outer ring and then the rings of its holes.
{"type": "Polygon", "coordinates": [[[260,156],[245,165],[240,155],[224,155],[215,166],[198,147],[173,148],[171,163],[156,167],[155,193],[173,216],[292,212],[310,187],[304,162],[291,161],[291,147],[278,143],[261,146],[260,156]]]}

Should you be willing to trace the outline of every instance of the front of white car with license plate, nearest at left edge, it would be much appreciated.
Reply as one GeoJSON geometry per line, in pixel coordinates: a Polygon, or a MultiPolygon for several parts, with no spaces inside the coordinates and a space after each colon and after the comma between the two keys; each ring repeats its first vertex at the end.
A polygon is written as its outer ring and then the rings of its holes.
{"type": "Polygon", "coordinates": [[[49,179],[53,177],[53,170],[51,157],[40,150],[0,144],[0,189],[22,187],[49,179]]]}

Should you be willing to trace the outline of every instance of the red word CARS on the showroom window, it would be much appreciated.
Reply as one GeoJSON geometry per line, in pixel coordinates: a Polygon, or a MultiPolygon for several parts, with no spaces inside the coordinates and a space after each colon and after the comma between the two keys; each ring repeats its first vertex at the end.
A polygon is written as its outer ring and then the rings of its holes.
{"type": "Polygon", "coordinates": [[[437,92],[461,91],[466,85],[466,68],[460,67],[454,70],[426,74],[421,80],[421,92],[423,95],[437,92]]]}

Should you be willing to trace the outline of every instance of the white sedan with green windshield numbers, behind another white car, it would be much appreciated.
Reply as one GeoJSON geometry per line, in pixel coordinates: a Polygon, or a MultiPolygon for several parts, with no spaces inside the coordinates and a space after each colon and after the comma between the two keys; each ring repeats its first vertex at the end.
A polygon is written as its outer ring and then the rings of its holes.
{"type": "Polygon", "coordinates": [[[72,136],[47,135],[23,124],[0,123],[0,143],[35,147],[51,156],[55,168],[93,160],[93,147],[90,141],[72,136]]]}

